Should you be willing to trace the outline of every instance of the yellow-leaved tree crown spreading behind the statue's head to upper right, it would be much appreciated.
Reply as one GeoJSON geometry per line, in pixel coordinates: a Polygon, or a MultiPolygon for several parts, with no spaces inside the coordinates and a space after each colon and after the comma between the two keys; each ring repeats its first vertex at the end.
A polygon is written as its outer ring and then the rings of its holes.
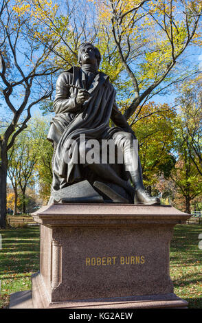
{"type": "MultiPolygon", "coordinates": [[[[110,76],[117,97],[128,100],[127,120],[154,96],[164,96],[199,72],[185,54],[190,45],[202,44],[201,0],[65,1],[55,17],[52,1],[46,2],[48,8],[43,1],[23,0],[20,8],[32,10],[36,23],[51,38],[60,38],[54,48],[56,65],[76,65],[79,45],[93,42],[102,54],[100,70],[110,76]]],[[[40,31],[35,36],[44,41],[40,31]]],[[[51,109],[49,102],[46,107],[51,109]]]]}

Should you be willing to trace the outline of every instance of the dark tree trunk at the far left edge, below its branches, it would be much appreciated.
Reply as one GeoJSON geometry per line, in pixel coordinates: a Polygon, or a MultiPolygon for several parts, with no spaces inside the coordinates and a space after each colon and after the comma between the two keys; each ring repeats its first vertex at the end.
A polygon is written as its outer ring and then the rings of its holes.
{"type": "Polygon", "coordinates": [[[6,223],[6,179],[8,170],[8,159],[6,149],[1,144],[0,164],[0,227],[5,228],[6,223]]]}

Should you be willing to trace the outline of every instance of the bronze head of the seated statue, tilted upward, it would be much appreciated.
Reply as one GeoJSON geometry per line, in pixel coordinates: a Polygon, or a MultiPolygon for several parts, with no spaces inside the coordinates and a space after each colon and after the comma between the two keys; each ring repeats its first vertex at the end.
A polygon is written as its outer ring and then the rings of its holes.
{"type": "Polygon", "coordinates": [[[80,45],[78,49],[78,63],[83,64],[93,64],[100,65],[101,55],[97,47],[93,46],[91,43],[85,43],[80,45]]]}

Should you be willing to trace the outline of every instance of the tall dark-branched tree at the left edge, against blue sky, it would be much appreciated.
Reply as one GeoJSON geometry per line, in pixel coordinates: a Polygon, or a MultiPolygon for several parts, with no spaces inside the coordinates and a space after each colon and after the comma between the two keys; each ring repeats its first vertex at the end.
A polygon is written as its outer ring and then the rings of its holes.
{"type": "MultiPolygon", "coordinates": [[[[16,137],[26,128],[35,104],[49,98],[53,91],[52,74],[58,70],[48,60],[58,39],[46,42],[29,37],[34,22],[29,12],[18,12],[14,6],[19,1],[1,1],[0,7],[0,87],[3,108],[0,138],[0,226],[5,227],[6,177],[8,151],[16,137]],[[6,115],[6,118],[4,118],[6,115]]],[[[37,28],[37,26],[35,26],[37,28]]]]}

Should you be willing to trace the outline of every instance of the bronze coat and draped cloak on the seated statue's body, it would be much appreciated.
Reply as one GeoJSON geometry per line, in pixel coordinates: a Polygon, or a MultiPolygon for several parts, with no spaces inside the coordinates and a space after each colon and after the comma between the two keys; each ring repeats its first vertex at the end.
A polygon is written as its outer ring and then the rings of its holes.
{"type": "Polygon", "coordinates": [[[70,184],[82,179],[81,165],[74,164],[74,151],[67,163],[71,140],[79,142],[80,135],[85,135],[86,140],[109,140],[117,132],[133,133],[133,131],[117,109],[115,89],[109,82],[109,76],[98,71],[88,89],[90,97],[82,107],[76,104],[78,89],[66,85],[87,88],[85,76],[80,67],[71,67],[58,77],[54,100],[56,115],[52,119],[47,135],[47,139],[56,144],[54,175],[65,179],[70,184]],[[109,126],[110,118],[117,126],[109,126]]]}

